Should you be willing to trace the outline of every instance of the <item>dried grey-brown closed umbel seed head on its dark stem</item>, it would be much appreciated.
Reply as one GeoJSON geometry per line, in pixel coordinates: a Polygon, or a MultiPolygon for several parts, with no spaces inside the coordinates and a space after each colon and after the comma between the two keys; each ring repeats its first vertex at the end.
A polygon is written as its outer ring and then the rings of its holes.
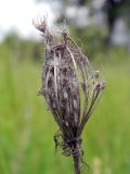
{"type": "Polygon", "coordinates": [[[46,47],[39,94],[46,98],[60,127],[54,136],[55,146],[62,148],[64,156],[74,158],[76,174],[80,174],[81,134],[105,82],[100,80],[99,71],[93,71],[66,30],[57,38],[50,33],[46,20],[35,26],[42,33],[46,47]]]}

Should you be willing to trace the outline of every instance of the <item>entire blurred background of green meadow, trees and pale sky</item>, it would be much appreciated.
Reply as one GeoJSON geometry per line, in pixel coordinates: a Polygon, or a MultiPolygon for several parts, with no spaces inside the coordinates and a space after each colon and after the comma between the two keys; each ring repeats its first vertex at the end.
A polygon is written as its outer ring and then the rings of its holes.
{"type": "Polygon", "coordinates": [[[91,173],[130,173],[129,11],[129,0],[0,0],[0,174],[74,173],[72,158],[55,153],[58,128],[37,96],[44,49],[32,18],[43,15],[51,29],[69,29],[107,82],[83,132],[91,173]]]}

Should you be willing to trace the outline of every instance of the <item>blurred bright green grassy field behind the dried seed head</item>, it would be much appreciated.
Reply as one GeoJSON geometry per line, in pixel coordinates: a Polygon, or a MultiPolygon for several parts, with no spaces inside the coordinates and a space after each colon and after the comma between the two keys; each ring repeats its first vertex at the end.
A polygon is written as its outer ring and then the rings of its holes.
{"type": "MultiPolygon", "coordinates": [[[[93,174],[129,174],[130,58],[118,50],[107,57],[107,87],[83,132],[84,159],[93,174]]],[[[37,96],[41,66],[0,47],[0,174],[74,173],[72,158],[55,153],[57,126],[37,96]]]]}

